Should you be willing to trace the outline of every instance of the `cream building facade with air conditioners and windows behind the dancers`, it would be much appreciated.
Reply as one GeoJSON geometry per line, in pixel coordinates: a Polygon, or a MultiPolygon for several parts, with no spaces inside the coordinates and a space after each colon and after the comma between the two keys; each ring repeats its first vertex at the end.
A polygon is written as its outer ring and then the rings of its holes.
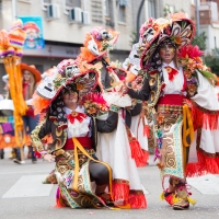
{"type": "MultiPolygon", "coordinates": [[[[111,60],[124,61],[131,48],[131,33],[137,33],[137,16],[142,0],[0,0],[0,30],[9,30],[20,16],[37,15],[43,20],[45,47],[24,49],[23,62],[44,72],[65,58],[76,58],[85,33],[94,26],[119,32],[111,60]]],[[[191,0],[145,0],[139,26],[148,18],[165,11],[185,11],[191,15],[191,0]],[[189,2],[189,3],[188,3],[189,2]]],[[[5,74],[0,62],[0,77],[5,74]]],[[[0,80],[0,93],[3,82],[0,80]]]]}

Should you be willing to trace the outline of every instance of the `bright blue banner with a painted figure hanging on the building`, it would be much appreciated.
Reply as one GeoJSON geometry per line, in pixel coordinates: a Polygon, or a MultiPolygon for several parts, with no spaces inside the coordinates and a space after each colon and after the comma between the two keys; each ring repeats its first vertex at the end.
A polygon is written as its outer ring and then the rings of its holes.
{"type": "Polygon", "coordinates": [[[20,16],[20,19],[23,22],[23,28],[26,31],[24,48],[44,48],[45,43],[42,16],[20,16]]]}

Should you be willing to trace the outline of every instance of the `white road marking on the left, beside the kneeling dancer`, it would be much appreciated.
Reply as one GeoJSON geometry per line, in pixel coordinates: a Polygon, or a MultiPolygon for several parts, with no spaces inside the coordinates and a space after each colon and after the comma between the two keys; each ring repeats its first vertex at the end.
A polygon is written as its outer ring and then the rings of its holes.
{"type": "Polygon", "coordinates": [[[2,198],[24,198],[49,196],[53,184],[43,184],[47,175],[24,175],[22,176],[2,198]]]}

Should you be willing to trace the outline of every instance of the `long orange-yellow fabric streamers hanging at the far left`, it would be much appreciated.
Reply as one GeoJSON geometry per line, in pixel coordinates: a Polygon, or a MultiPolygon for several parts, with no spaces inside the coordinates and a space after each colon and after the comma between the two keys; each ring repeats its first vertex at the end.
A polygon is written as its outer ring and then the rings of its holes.
{"type": "Polygon", "coordinates": [[[22,147],[25,141],[25,138],[23,138],[24,125],[22,116],[25,115],[27,105],[23,97],[20,57],[5,57],[3,60],[7,73],[9,74],[10,93],[14,105],[13,116],[15,141],[16,146],[22,147]]]}

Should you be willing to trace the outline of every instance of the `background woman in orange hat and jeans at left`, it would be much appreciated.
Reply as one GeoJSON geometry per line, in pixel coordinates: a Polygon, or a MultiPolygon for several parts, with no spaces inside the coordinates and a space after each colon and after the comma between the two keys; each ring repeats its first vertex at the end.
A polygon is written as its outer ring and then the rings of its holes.
{"type": "MultiPolygon", "coordinates": [[[[24,138],[27,137],[27,135],[31,134],[32,130],[36,127],[38,123],[38,115],[34,115],[34,108],[32,106],[32,96],[34,94],[34,91],[37,87],[37,83],[41,81],[42,76],[41,72],[35,68],[35,66],[28,66],[26,64],[21,64],[21,71],[23,74],[23,96],[24,100],[28,106],[26,111],[26,115],[24,115],[23,122],[24,122],[24,138]]],[[[28,142],[31,143],[31,142],[28,142]]],[[[28,147],[28,154],[27,158],[32,159],[32,162],[35,163],[37,161],[35,153],[33,151],[33,147],[31,145],[27,145],[28,147]]],[[[21,159],[20,148],[18,148],[18,155],[16,159],[14,159],[15,163],[24,163],[21,159]]]]}

